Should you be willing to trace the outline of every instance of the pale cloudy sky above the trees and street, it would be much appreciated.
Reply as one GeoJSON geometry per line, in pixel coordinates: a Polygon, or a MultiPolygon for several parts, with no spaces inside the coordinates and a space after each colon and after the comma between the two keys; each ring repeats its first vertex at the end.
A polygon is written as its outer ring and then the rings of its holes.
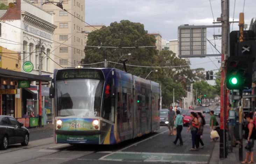
{"type": "MultiPolygon", "coordinates": [[[[86,0],[85,3],[85,21],[89,24],[108,26],[127,19],[144,24],[149,33],[160,33],[166,40],[177,39],[179,25],[213,25],[213,20],[221,14],[221,0],[86,0]]],[[[245,24],[249,28],[251,19],[256,17],[256,1],[229,0],[229,6],[230,21],[233,21],[233,13],[234,21],[238,21],[239,13],[244,10],[245,24]]],[[[238,28],[237,23],[230,24],[230,31],[238,28]]],[[[221,34],[221,28],[207,29],[207,39],[221,52],[221,39],[212,40],[214,33],[221,34]]],[[[207,54],[213,53],[218,54],[208,42],[207,54]]],[[[219,69],[219,60],[220,56],[190,58],[191,68],[219,69]]],[[[207,82],[214,85],[214,80],[207,82]]]]}

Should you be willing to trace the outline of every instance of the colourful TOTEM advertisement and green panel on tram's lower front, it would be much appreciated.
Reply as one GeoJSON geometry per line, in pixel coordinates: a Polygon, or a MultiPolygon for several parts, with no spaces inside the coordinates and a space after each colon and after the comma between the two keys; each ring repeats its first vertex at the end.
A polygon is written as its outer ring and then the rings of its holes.
{"type": "MultiPolygon", "coordinates": [[[[57,118],[57,120],[59,120],[57,118]]],[[[73,135],[56,134],[57,143],[99,143],[99,134],[95,135],[76,135],[75,131],[92,131],[95,130],[92,126],[91,118],[61,118],[62,125],[58,131],[72,131],[73,135]]]]}

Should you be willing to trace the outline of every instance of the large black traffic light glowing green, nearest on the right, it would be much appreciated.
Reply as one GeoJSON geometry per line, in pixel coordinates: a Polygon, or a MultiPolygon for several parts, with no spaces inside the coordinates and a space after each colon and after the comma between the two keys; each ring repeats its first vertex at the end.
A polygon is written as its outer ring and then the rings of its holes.
{"type": "Polygon", "coordinates": [[[227,88],[251,87],[253,57],[230,56],[227,60],[227,88]]]}

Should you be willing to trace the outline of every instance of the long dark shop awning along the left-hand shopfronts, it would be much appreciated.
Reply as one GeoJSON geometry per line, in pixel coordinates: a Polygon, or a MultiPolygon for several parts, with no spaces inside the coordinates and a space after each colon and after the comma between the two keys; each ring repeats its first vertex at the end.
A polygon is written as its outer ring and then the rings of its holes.
{"type": "Polygon", "coordinates": [[[0,77],[10,78],[12,80],[51,81],[51,78],[47,76],[34,75],[31,73],[17,72],[1,68],[0,77]]]}

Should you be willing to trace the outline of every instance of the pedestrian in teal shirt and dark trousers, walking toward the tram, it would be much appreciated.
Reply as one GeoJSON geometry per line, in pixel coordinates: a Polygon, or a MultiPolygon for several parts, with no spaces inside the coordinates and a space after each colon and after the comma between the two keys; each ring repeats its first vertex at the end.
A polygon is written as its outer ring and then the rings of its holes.
{"type": "Polygon", "coordinates": [[[176,135],[176,139],[173,143],[176,145],[176,143],[179,139],[179,145],[183,146],[183,141],[182,141],[182,136],[181,136],[181,132],[182,132],[182,128],[183,128],[183,116],[180,114],[179,110],[176,111],[175,128],[177,129],[177,135],[176,135]]]}

